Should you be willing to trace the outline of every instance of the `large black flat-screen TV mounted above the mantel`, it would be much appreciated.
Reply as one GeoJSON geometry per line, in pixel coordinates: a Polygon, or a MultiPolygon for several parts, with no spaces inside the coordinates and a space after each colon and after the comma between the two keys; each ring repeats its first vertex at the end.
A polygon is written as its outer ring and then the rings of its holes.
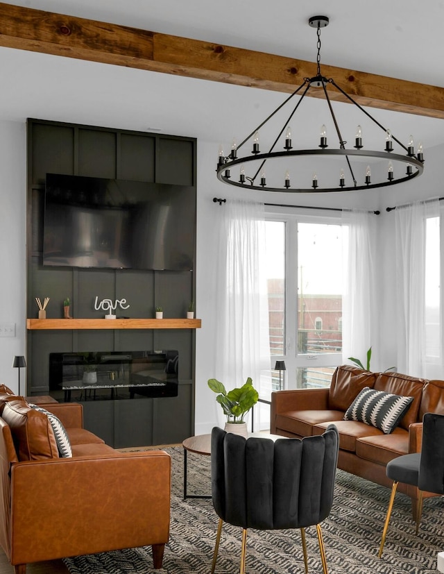
{"type": "Polygon", "coordinates": [[[46,174],[43,264],[193,269],[194,187],[46,174]]]}

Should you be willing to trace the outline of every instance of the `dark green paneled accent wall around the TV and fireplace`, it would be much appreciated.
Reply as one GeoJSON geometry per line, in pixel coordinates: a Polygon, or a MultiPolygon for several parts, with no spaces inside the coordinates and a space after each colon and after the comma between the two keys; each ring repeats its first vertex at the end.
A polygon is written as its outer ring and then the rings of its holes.
{"type": "MultiPolygon", "coordinates": [[[[196,140],[28,120],[28,317],[37,317],[35,297],[46,296],[51,298],[48,318],[62,318],[67,296],[73,316],[101,317],[93,306],[96,295],[99,300],[125,297],[129,317],[152,317],[159,304],[165,318],[185,316],[194,300],[194,272],[42,266],[46,173],[187,185],[196,191],[196,140]]],[[[194,233],[196,200],[184,217],[194,233]]],[[[194,341],[193,330],[29,331],[27,394],[48,394],[51,352],[177,349],[178,398],[91,401],[84,403],[84,412],[85,426],[116,447],[179,442],[194,428],[194,341]]]]}

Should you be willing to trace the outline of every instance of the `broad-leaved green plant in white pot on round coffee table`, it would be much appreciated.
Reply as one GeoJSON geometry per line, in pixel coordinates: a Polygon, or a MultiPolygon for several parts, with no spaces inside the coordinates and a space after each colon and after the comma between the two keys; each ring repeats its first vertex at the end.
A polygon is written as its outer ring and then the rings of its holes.
{"type": "Polygon", "coordinates": [[[218,395],[216,400],[221,405],[223,414],[227,416],[225,430],[247,436],[246,414],[259,400],[259,394],[253,387],[253,380],[248,377],[244,386],[226,391],[223,383],[216,379],[208,380],[208,387],[218,395]]]}

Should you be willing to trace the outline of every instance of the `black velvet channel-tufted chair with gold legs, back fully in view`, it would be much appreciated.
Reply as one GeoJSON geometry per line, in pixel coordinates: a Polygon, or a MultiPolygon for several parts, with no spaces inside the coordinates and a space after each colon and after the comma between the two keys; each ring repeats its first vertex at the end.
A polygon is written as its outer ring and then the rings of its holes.
{"type": "Polygon", "coordinates": [[[316,525],[323,571],[327,562],[321,521],[333,503],[339,437],[334,425],[322,436],[269,439],[212,430],[212,500],[219,516],[212,574],[224,522],[242,527],[240,573],[245,573],[248,528],[300,528],[308,572],[305,527],[316,525]]]}

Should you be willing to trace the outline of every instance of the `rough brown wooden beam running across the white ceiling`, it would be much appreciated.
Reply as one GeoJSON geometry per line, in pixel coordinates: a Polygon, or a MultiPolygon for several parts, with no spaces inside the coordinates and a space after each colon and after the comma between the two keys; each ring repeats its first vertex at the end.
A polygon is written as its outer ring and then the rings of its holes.
{"type": "MultiPolygon", "coordinates": [[[[316,76],[314,62],[7,3],[0,3],[0,46],[277,92],[291,93],[316,76]]],[[[322,73],[360,105],[444,118],[442,87],[327,65],[322,73]]]]}

